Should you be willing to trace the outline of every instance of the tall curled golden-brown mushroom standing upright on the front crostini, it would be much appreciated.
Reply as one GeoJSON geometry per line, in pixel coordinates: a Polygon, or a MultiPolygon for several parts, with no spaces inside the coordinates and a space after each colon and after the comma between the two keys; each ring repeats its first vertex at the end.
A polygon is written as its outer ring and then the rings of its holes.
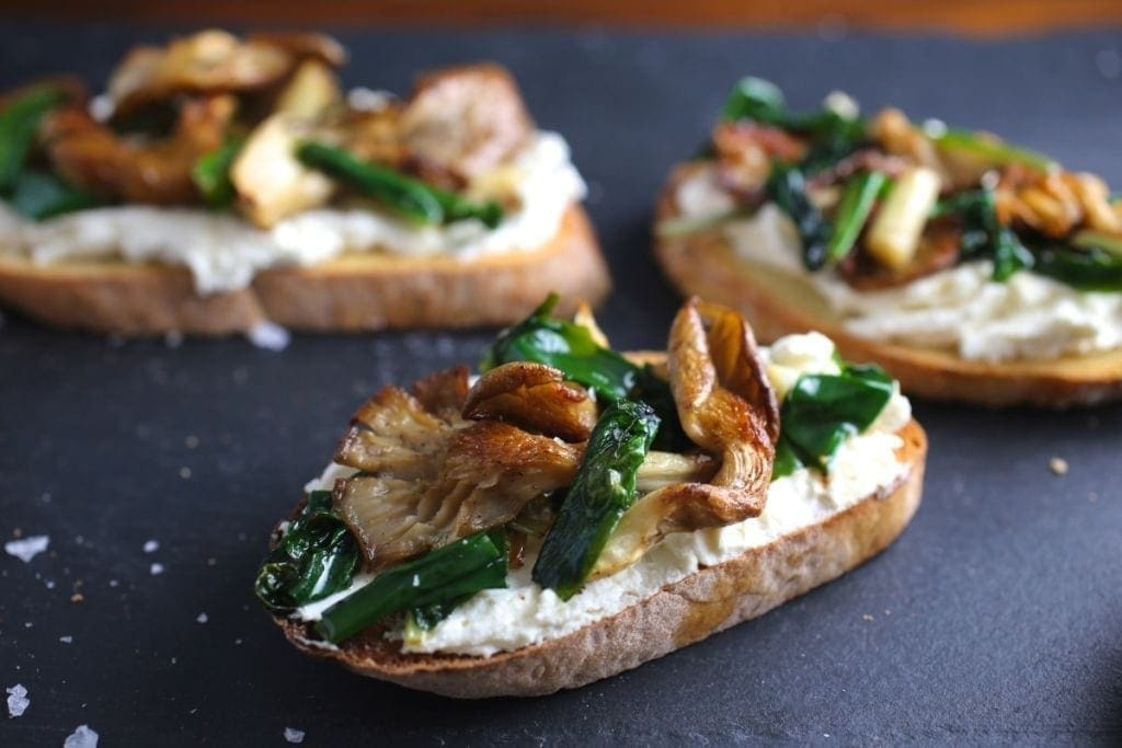
{"type": "Polygon", "coordinates": [[[686,302],[670,332],[670,384],[687,435],[720,468],[707,483],[654,490],[627,510],[591,576],[623,569],[669,533],[758,516],[767,500],[779,407],[755,339],[732,310],[686,302]]]}

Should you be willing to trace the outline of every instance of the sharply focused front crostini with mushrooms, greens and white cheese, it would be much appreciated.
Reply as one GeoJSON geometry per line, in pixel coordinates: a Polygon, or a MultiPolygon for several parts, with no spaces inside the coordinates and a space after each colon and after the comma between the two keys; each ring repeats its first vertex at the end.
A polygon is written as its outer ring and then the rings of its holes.
{"type": "Polygon", "coordinates": [[[301,649],[458,698],[608,677],[885,548],[927,452],[882,370],[811,333],[757,347],[689,299],[620,354],[552,301],[480,375],[386,387],[280,523],[256,591],[301,649]]]}

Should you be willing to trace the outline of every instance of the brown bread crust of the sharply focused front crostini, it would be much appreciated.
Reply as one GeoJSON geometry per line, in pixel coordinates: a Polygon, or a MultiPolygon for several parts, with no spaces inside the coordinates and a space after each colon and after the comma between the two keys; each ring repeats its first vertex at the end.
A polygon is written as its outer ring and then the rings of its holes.
{"type": "Polygon", "coordinates": [[[490,657],[403,654],[374,627],[328,649],[304,625],[277,618],[309,654],[356,673],[445,696],[533,696],[576,689],[661,657],[840,576],[883,551],[919,508],[927,436],[914,421],[899,432],[908,468],[895,486],[826,520],[729,561],[703,567],[650,598],[572,634],[490,657]]]}

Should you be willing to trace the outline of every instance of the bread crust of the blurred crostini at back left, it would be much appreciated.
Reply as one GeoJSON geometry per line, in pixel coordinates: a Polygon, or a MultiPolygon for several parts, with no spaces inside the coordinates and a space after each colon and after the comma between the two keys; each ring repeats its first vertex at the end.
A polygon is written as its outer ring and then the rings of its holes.
{"type": "Polygon", "coordinates": [[[242,290],[199,296],[185,268],[120,260],[38,266],[0,253],[0,303],[55,326],[119,335],[245,332],[263,321],[293,330],[362,332],[507,324],[558,292],[562,313],[599,303],[607,265],[585,210],[571,205],[536,249],[484,256],[346,255],[265,270],[242,290]]]}

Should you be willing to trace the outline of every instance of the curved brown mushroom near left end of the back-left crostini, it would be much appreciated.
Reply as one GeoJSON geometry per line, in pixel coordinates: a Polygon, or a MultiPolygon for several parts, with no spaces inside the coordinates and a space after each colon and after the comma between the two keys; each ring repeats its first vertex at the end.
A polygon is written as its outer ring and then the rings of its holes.
{"type": "Polygon", "coordinates": [[[175,132],[159,142],[125,139],[84,108],[66,108],[47,117],[44,139],[52,164],[75,185],[134,203],[194,203],[191,169],[222,145],[234,107],[229,95],[186,102],[175,132]]]}

